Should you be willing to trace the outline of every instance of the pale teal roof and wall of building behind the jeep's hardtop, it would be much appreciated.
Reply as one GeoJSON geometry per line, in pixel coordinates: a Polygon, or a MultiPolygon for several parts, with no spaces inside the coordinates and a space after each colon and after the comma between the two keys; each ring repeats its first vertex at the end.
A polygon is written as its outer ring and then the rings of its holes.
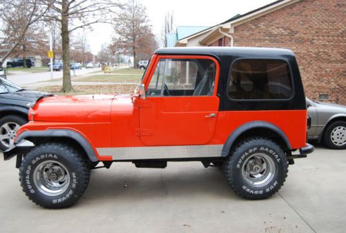
{"type": "Polygon", "coordinates": [[[210,28],[210,26],[177,26],[176,33],[166,34],[167,47],[174,47],[176,46],[176,42],[182,38],[204,31],[207,28],[210,28]]]}

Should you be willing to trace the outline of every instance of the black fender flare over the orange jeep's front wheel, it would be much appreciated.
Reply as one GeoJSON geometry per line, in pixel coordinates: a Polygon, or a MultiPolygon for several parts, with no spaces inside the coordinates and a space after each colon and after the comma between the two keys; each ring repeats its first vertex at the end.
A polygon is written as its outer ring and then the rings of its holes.
{"type": "Polygon", "coordinates": [[[30,141],[30,137],[68,137],[73,139],[82,146],[86,155],[88,155],[91,162],[98,162],[99,159],[95,155],[93,147],[89,144],[89,141],[80,133],[73,130],[35,130],[22,132],[16,139],[15,144],[19,144],[24,139],[30,141]]]}

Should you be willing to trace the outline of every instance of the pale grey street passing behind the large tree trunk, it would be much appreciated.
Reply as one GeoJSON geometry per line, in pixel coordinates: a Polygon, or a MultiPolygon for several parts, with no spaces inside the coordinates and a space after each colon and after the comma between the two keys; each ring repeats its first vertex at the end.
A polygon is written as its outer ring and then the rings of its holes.
{"type": "MultiPolygon", "coordinates": [[[[75,75],[79,76],[82,74],[88,74],[90,72],[101,71],[101,68],[93,69],[76,69],[75,75]]],[[[71,76],[73,76],[73,71],[71,71],[71,76]]],[[[51,72],[40,72],[40,73],[31,73],[31,74],[12,74],[7,76],[8,80],[21,86],[26,87],[37,82],[51,80],[51,72]]],[[[53,71],[53,78],[62,78],[62,71],[53,71]]]]}

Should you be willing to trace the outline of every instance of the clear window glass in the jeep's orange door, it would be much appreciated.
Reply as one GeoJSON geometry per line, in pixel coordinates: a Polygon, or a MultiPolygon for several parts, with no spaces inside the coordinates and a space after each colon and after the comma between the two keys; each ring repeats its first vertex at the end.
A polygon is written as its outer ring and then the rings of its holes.
{"type": "Polygon", "coordinates": [[[161,59],[147,96],[212,96],[215,74],[209,59],[161,59]]]}

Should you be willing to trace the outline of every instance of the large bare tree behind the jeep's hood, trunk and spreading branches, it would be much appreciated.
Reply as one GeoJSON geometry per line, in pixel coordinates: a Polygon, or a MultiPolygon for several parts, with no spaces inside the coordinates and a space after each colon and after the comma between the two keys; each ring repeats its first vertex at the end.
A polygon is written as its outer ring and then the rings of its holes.
{"type": "Polygon", "coordinates": [[[56,0],[46,19],[58,21],[61,25],[62,60],[64,64],[62,92],[71,92],[70,35],[78,28],[108,22],[111,14],[120,7],[118,1],[111,0],[56,0]]]}

